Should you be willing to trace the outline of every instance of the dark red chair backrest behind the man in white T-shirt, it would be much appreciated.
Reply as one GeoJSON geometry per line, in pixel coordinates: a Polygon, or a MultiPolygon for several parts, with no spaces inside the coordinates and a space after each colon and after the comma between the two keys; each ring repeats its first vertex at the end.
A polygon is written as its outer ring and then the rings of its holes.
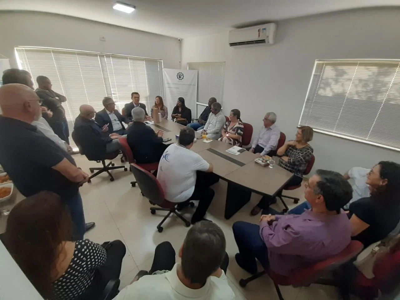
{"type": "Polygon", "coordinates": [[[135,176],[143,195],[157,205],[162,204],[165,200],[164,190],[157,178],[137,164],[130,164],[130,170],[135,176]]]}

